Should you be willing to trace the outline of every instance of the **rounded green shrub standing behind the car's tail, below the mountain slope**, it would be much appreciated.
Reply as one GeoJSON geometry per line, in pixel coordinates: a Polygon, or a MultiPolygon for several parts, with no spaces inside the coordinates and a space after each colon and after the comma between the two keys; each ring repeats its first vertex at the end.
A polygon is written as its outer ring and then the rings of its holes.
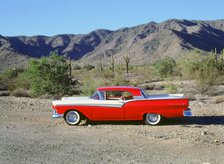
{"type": "Polygon", "coordinates": [[[162,77],[168,77],[175,74],[176,61],[173,58],[166,57],[165,59],[157,60],[154,66],[156,73],[162,77]]]}

